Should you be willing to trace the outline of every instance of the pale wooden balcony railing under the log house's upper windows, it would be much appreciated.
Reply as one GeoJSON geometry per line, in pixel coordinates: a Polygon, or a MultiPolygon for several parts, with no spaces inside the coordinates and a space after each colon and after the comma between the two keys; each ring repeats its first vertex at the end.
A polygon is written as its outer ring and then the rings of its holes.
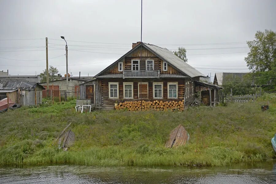
{"type": "Polygon", "coordinates": [[[125,78],[160,78],[159,70],[124,70],[123,79],[125,78]]]}

